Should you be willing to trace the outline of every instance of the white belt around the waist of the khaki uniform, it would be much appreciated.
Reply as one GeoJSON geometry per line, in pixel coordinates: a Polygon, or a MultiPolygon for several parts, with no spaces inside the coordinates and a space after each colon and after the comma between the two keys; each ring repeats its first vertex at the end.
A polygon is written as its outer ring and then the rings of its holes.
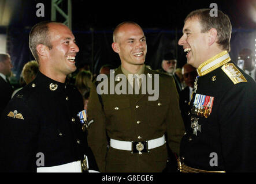
{"type": "MultiPolygon", "coordinates": [[[[165,144],[165,135],[162,137],[159,137],[157,139],[152,139],[148,141],[139,141],[136,142],[137,145],[141,145],[140,143],[147,143],[147,150],[153,149],[160,147],[161,145],[165,144]]],[[[121,140],[115,140],[115,139],[110,139],[110,147],[115,148],[117,150],[126,150],[126,151],[132,151],[133,150],[133,141],[121,141],[121,140]]],[[[136,149],[140,151],[140,147],[136,145],[136,149]]],[[[142,148],[143,150],[143,148],[142,148]]]]}

